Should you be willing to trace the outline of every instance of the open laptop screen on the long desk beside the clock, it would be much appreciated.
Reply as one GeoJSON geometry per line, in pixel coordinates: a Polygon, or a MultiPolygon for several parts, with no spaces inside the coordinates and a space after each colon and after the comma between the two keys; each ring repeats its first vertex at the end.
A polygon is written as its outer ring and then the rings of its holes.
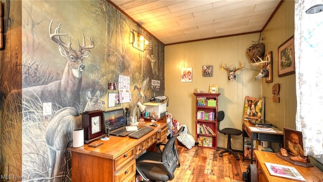
{"type": "Polygon", "coordinates": [[[125,126],[123,109],[116,109],[103,112],[104,123],[109,123],[109,130],[125,126]]]}

